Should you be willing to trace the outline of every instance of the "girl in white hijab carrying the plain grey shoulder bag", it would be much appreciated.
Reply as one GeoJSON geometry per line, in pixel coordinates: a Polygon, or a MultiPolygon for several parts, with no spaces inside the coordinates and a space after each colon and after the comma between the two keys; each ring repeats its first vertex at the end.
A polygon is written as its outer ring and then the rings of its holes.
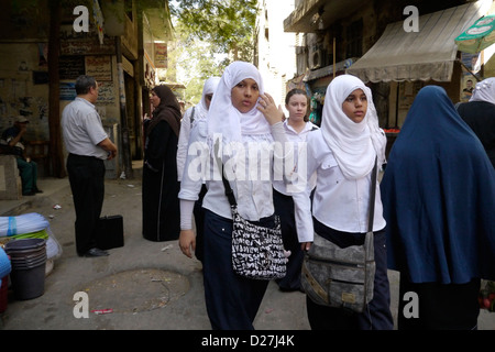
{"type": "MultiPolygon", "coordinates": [[[[336,77],[327,88],[321,128],[307,136],[308,177],[317,173],[312,221],[307,201],[306,228],[341,248],[362,244],[367,231],[370,185],[377,160],[385,162],[386,138],[371,90],[356,77],[336,77]]],[[[394,327],[389,309],[389,287],[385,250],[385,219],[376,183],[374,246],[376,274],[374,295],[363,314],[322,307],[307,298],[312,329],[380,329],[394,327]]],[[[301,220],[304,221],[304,220],[301,220]]],[[[309,244],[306,244],[309,248],[309,244]]]]}

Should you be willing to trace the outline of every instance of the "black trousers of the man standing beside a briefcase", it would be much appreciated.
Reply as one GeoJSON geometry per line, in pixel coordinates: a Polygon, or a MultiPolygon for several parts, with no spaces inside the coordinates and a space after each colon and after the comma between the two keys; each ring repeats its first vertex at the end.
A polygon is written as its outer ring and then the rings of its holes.
{"type": "Polygon", "coordinates": [[[105,198],[105,163],[92,156],[69,154],[67,172],[76,209],[76,250],[82,255],[96,246],[105,198]]]}

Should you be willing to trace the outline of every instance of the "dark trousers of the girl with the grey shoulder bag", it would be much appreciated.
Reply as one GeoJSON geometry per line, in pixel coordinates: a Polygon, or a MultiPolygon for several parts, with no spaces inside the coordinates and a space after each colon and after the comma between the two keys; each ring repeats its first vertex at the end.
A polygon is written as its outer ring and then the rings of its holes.
{"type": "MultiPolygon", "coordinates": [[[[365,233],[348,233],[330,229],[314,218],[315,231],[341,248],[363,244],[365,233]]],[[[373,299],[361,314],[315,304],[306,297],[308,320],[314,330],[393,330],[391,289],[387,276],[385,231],[374,232],[375,280],[373,299]]]]}

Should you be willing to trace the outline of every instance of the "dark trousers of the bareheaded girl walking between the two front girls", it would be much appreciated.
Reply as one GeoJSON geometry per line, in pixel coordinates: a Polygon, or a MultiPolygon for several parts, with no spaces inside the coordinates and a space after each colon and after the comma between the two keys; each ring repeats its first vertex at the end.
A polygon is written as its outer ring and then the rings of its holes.
{"type": "Polygon", "coordinates": [[[287,274],[276,283],[282,290],[297,290],[300,288],[300,270],[305,253],[300,249],[297,238],[296,219],[294,215],[294,200],[277,190],[273,190],[275,213],[280,217],[282,239],[286,251],[290,251],[287,262],[287,274]]]}

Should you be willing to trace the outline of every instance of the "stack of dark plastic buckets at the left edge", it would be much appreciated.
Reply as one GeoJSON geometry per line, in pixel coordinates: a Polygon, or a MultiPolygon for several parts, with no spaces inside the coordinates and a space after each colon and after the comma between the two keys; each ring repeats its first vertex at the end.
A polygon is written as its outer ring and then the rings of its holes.
{"type": "Polygon", "coordinates": [[[9,241],[6,252],[10,255],[10,279],[14,297],[20,300],[40,297],[45,292],[46,241],[20,239],[9,241]]]}

